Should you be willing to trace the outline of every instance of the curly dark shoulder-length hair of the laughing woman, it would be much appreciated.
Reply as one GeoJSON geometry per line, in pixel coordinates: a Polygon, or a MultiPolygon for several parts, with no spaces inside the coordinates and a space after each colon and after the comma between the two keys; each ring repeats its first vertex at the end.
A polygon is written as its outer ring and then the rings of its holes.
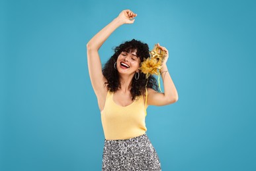
{"type": "MultiPolygon", "coordinates": [[[[114,47],[114,55],[110,57],[110,59],[105,63],[103,67],[103,75],[107,79],[107,89],[111,92],[118,90],[120,88],[120,81],[118,76],[118,71],[114,69],[114,62],[117,61],[118,56],[122,51],[130,52],[135,51],[137,49],[136,55],[140,58],[140,61],[143,62],[144,58],[148,59],[149,55],[149,47],[147,43],[142,43],[142,41],[138,41],[136,39],[132,39],[131,41],[125,41],[117,47],[114,47]]],[[[140,66],[141,66],[140,62],[140,66]]],[[[137,96],[145,95],[146,92],[146,74],[140,72],[140,77],[136,80],[134,77],[132,78],[132,88],[130,89],[130,93],[132,94],[132,101],[136,99],[137,96]]],[[[154,76],[150,75],[148,78],[147,87],[154,89],[155,91],[159,91],[159,87],[157,85],[157,80],[154,76]]]]}

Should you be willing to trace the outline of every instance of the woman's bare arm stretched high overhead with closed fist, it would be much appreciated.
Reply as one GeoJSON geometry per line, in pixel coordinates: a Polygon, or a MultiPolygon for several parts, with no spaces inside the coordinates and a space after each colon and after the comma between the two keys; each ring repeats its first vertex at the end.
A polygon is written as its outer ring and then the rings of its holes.
{"type": "Polygon", "coordinates": [[[95,94],[100,95],[105,89],[106,78],[103,76],[101,68],[101,59],[99,57],[99,49],[106,39],[122,24],[134,23],[134,17],[137,16],[130,10],[124,10],[120,12],[118,17],[114,18],[105,28],[98,32],[93,38],[87,43],[87,63],[89,69],[89,76],[91,84],[95,94]],[[132,19],[132,20],[131,20],[132,19]]]}

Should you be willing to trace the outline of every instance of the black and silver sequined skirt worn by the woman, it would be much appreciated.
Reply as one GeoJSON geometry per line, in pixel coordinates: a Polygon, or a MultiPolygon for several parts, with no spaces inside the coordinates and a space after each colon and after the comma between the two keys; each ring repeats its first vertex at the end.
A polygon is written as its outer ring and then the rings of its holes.
{"type": "Polygon", "coordinates": [[[145,133],[130,139],[105,139],[102,170],[161,170],[155,148],[145,133]]]}

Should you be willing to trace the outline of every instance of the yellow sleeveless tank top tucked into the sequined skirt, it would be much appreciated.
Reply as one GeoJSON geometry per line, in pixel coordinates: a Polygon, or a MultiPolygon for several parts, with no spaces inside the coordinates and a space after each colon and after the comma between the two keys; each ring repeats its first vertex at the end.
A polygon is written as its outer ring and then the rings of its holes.
{"type": "Polygon", "coordinates": [[[101,111],[101,123],[105,139],[129,139],[145,134],[146,112],[143,96],[132,104],[122,107],[113,101],[113,92],[108,90],[104,109],[101,111]]]}

